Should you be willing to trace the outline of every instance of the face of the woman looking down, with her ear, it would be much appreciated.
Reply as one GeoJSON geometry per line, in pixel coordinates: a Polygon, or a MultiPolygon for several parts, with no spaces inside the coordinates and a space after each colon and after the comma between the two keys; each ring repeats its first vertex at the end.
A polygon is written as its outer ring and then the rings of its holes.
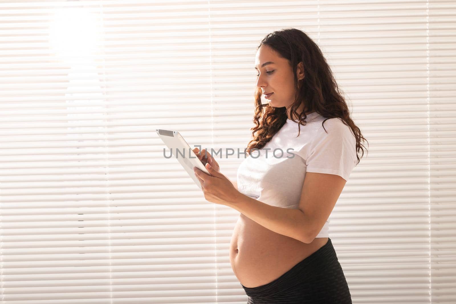
{"type": "MultiPolygon", "coordinates": [[[[270,106],[281,108],[294,103],[297,88],[288,60],[279,57],[269,46],[263,45],[256,53],[255,69],[258,75],[257,87],[261,88],[262,98],[268,101],[270,106]],[[265,93],[273,94],[266,97],[265,93]]],[[[298,64],[296,75],[299,80],[304,78],[302,62],[298,64]]]]}

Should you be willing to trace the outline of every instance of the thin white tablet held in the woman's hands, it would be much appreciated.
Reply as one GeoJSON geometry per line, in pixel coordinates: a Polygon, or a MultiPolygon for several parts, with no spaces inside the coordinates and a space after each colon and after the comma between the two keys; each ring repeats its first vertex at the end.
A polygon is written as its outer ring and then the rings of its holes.
{"type": "Polygon", "coordinates": [[[199,160],[198,156],[195,152],[193,152],[192,148],[190,148],[182,135],[177,131],[171,130],[155,129],[155,131],[172,153],[172,157],[170,157],[170,159],[166,159],[163,156],[164,162],[172,161],[171,159],[177,159],[195,184],[197,184],[198,188],[201,189],[200,181],[197,179],[193,168],[197,167],[204,173],[208,175],[211,174],[207,171],[206,167],[202,164],[201,160],[199,160]]]}

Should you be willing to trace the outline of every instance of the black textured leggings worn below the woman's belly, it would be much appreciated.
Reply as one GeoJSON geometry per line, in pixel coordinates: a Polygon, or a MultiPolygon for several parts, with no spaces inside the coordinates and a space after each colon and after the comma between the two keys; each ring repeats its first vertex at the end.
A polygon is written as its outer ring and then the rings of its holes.
{"type": "Polygon", "coordinates": [[[352,304],[330,238],[280,278],[254,288],[242,287],[249,296],[247,304],[352,304]]]}

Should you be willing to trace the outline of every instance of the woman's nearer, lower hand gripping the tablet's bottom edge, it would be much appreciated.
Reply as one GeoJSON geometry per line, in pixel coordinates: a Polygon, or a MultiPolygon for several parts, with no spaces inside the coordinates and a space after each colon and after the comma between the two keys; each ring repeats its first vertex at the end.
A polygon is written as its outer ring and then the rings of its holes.
{"type": "Polygon", "coordinates": [[[214,170],[209,163],[206,164],[206,169],[212,176],[207,175],[197,167],[193,168],[201,184],[204,198],[209,202],[228,206],[240,192],[236,190],[233,183],[225,175],[214,170]]]}

